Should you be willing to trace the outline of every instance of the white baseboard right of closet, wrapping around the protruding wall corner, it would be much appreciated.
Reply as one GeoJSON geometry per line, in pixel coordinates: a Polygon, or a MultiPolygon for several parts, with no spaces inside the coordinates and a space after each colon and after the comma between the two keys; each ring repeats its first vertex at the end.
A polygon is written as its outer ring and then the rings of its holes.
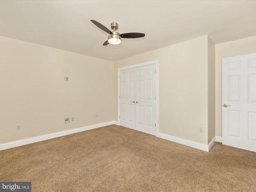
{"type": "Polygon", "coordinates": [[[207,151],[207,152],[210,151],[210,149],[212,148],[212,146],[214,145],[214,142],[215,142],[215,138],[213,138],[212,141],[210,142],[210,144],[204,145],[204,144],[201,144],[201,143],[189,141],[189,140],[186,140],[186,139],[170,136],[170,135],[163,134],[163,133],[158,133],[157,136],[159,138],[162,138],[162,139],[173,141],[173,142],[176,142],[176,143],[179,143],[179,144],[183,144],[183,145],[193,147],[193,148],[196,148],[196,149],[200,149],[200,150],[203,150],[203,151],[207,151]]]}

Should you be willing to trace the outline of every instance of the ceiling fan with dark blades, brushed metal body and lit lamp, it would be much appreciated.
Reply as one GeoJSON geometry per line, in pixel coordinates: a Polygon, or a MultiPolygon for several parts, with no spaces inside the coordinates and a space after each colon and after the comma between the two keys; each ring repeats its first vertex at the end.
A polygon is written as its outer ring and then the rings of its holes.
{"type": "Polygon", "coordinates": [[[111,23],[111,29],[113,31],[110,31],[108,28],[106,28],[104,25],[100,24],[99,22],[95,21],[95,20],[91,20],[91,22],[93,22],[98,28],[104,30],[105,32],[107,32],[108,34],[110,34],[108,36],[108,40],[106,40],[103,45],[108,45],[108,44],[120,44],[121,43],[121,38],[140,38],[140,37],[144,37],[145,34],[144,33],[124,33],[124,34],[119,34],[118,32],[116,32],[116,30],[118,30],[118,23],[113,22],[111,23]]]}

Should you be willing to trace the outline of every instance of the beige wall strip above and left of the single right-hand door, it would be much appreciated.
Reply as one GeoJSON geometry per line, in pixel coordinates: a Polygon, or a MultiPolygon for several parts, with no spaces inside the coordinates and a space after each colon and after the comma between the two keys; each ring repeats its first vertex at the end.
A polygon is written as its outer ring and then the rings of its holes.
{"type": "Polygon", "coordinates": [[[256,52],[256,36],[216,45],[216,136],[222,137],[222,58],[256,52]]]}

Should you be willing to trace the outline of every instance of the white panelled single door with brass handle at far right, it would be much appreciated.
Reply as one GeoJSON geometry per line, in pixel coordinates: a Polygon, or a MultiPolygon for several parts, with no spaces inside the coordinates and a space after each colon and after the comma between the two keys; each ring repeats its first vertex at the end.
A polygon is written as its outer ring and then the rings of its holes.
{"type": "Polygon", "coordinates": [[[256,152],[256,53],[222,59],[222,144],[256,152]]]}

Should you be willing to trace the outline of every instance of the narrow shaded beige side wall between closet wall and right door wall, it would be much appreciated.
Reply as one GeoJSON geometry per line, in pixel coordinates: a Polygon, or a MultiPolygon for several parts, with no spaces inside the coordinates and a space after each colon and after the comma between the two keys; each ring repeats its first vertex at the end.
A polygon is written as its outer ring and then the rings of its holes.
{"type": "Polygon", "coordinates": [[[208,144],[215,137],[215,44],[208,37],[208,144]]]}

